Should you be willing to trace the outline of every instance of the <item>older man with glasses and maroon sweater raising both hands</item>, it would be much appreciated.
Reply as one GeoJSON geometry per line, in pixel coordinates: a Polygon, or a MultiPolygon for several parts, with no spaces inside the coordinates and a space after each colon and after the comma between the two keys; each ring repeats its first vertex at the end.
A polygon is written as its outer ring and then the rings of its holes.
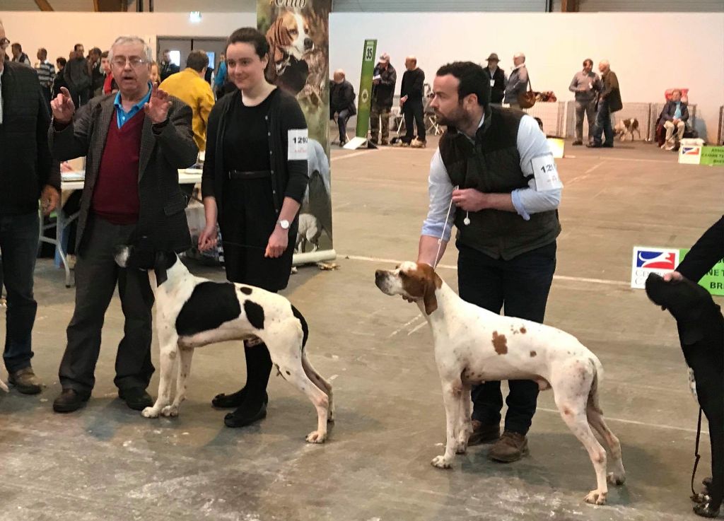
{"type": "Polygon", "coordinates": [[[151,364],[153,292],[143,271],[114,262],[117,245],[182,251],[190,246],[186,198],[177,169],[192,165],[191,109],[153,87],[151,49],[137,37],[117,38],[109,54],[117,96],[93,98],[77,113],[62,88],[52,102],[51,151],[60,160],[86,156],[77,225],[75,311],[60,365],[56,412],[82,407],[95,384],[104,315],[116,286],[125,315],[116,355],[119,397],[143,410],[151,364]]]}

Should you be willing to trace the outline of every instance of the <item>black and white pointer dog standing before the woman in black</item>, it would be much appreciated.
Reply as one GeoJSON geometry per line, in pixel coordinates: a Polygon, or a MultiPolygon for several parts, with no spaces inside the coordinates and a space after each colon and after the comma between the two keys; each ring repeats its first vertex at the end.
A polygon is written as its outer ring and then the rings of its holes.
{"type": "Polygon", "coordinates": [[[334,421],[332,386],[309,363],[304,349],[307,323],[289,300],[258,287],[193,276],[173,252],[147,253],[120,246],[115,260],[122,268],[147,270],[156,297],[161,381],[156,403],[146,407],[143,416],[178,415],[195,347],[258,337],[269,348],[279,375],[306,394],[316,408],[317,429],[308,434],[307,441],[324,443],[327,422],[334,421]],[[171,402],[174,376],[176,394],[171,402]]]}

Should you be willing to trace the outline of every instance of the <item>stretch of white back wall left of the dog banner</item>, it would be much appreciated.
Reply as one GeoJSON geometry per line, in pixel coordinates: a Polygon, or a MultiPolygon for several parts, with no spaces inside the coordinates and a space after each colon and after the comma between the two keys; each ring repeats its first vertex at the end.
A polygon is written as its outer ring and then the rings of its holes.
{"type": "MultiPolygon", "coordinates": [[[[191,23],[187,12],[178,13],[80,13],[1,12],[7,38],[20,42],[35,62],[38,47],[48,49],[48,59],[67,59],[76,43],[85,51],[92,47],[106,51],[119,35],[138,35],[156,53],[157,36],[226,37],[238,27],[256,27],[256,13],[205,13],[201,22],[191,23]]],[[[9,51],[8,51],[9,52],[9,51]]]]}

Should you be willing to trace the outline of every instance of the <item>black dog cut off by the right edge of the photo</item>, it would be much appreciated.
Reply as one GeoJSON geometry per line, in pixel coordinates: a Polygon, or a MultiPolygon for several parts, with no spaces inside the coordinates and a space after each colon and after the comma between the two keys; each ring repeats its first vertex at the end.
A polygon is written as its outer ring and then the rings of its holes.
{"type": "Polygon", "coordinates": [[[712,446],[712,479],[704,480],[706,495],[694,512],[717,517],[724,495],[724,317],[709,292],[689,279],[667,282],[650,274],[646,292],[675,318],[683,356],[694,371],[712,446]]]}

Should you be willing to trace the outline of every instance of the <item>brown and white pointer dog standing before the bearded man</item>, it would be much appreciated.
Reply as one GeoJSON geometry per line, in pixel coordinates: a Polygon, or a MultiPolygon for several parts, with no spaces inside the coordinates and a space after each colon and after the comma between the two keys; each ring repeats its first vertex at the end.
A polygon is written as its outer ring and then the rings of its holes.
{"type": "Polygon", "coordinates": [[[597,488],[588,503],[605,504],[607,480],[626,479],[618,438],[607,427],[599,406],[603,368],[596,355],[576,337],[543,324],[500,316],[462,300],[427,264],[405,262],[394,270],[378,270],[375,283],[386,295],[402,295],[418,303],[430,324],[435,361],[442,380],[447,417],[445,454],[432,465],[449,468],[455,453],[466,452],[471,425],[471,386],[483,381],[534,380],[553,389],[561,418],[589,453],[597,488]],[[605,441],[613,461],[606,475],[605,441]]]}

